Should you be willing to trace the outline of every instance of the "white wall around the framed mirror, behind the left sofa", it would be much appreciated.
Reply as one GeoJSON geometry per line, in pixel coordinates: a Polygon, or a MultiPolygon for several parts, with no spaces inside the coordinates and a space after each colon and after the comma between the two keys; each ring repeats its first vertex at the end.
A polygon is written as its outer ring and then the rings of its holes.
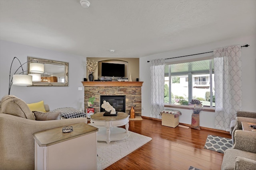
{"type": "MultiPolygon", "coordinates": [[[[23,64],[27,61],[27,56],[68,62],[68,86],[12,86],[10,94],[21,98],[26,103],[44,100],[51,110],[59,107],[84,108],[84,90],[78,91],[78,87],[83,87],[82,81],[86,77],[86,57],[2,40],[0,41],[0,98],[8,94],[12,59],[17,57],[23,64]]],[[[18,60],[15,60],[12,70],[17,68],[18,60]]],[[[24,70],[27,70],[27,64],[24,64],[24,70]]]]}

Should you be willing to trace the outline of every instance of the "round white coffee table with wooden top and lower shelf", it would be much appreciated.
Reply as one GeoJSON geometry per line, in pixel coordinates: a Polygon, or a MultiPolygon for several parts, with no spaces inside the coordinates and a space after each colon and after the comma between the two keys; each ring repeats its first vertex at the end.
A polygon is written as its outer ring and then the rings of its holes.
{"type": "Polygon", "coordinates": [[[103,116],[105,112],[91,115],[91,125],[98,127],[97,141],[119,141],[128,136],[129,116],[127,113],[118,112],[117,116],[103,116]],[[125,125],[125,129],[119,126],[125,125]]]}

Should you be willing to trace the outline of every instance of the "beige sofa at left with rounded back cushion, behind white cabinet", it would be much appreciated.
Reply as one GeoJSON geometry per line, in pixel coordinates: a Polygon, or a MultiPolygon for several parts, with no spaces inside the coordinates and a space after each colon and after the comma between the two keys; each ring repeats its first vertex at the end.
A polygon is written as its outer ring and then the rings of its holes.
{"type": "Polygon", "coordinates": [[[0,170],[34,170],[33,133],[76,123],[87,123],[87,119],[36,121],[23,100],[4,96],[0,102],[0,170]]]}

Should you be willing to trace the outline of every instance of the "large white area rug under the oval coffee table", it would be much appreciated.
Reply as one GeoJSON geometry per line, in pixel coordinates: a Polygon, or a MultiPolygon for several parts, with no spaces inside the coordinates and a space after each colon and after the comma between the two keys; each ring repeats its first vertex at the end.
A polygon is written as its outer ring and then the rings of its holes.
{"type": "Polygon", "coordinates": [[[107,168],[151,140],[151,137],[129,131],[128,137],[120,141],[112,141],[110,144],[98,141],[98,170],[107,168]]]}

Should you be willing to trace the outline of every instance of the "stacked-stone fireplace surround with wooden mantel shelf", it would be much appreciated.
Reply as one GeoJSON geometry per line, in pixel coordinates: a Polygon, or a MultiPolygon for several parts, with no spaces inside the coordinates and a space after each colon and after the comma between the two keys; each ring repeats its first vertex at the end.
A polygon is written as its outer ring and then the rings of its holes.
{"type": "Polygon", "coordinates": [[[84,109],[90,97],[95,97],[95,113],[100,112],[100,96],[125,96],[126,113],[135,107],[135,115],[141,116],[141,86],[143,82],[82,82],[84,86],[84,109]]]}

